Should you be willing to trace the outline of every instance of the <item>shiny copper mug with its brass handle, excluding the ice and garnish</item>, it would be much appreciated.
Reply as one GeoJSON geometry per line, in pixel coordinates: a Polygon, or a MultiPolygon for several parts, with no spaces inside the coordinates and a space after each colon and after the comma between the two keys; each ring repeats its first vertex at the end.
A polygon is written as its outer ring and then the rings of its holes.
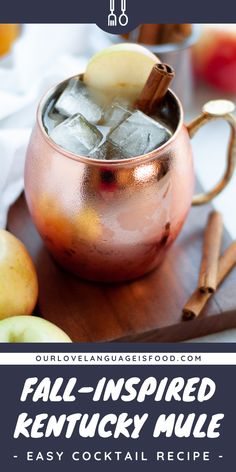
{"type": "Polygon", "coordinates": [[[178,236],[191,204],[206,203],[232,176],[236,161],[234,105],[208,102],[185,126],[180,101],[168,91],[161,118],[173,135],[158,149],[114,161],[75,155],[55,144],[42,114],[42,99],[28,147],[25,191],[32,219],[54,258],[82,278],[124,281],[153,270],[178,236]],[[190,138],[206,122],[223,118],[231,127],[224,177],[208,193],[193,198],[190,138]]]}

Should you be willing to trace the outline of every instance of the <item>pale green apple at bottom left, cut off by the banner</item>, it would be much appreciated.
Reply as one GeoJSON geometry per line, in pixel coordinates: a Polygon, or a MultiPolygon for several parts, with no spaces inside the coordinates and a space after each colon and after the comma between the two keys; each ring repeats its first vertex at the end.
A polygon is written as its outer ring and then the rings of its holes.
{"type": "Polygon", "coordinates": [[[36,316],[12,316],[0,321],[1,343],[70,343],[58,326],[36,316]]]}

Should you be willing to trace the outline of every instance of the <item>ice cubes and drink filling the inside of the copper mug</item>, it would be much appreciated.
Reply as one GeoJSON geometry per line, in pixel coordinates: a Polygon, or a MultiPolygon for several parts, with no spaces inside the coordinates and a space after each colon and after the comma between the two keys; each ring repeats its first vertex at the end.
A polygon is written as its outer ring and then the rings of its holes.
{"type": "Polygon", "coordinates": [[[65,84],[45,110],[43,123],[51,139],[67,151],[93,159],[117,160],[141,156],[171,137],[158,115],[136,109],[126,90],[99,92],[82,77],[65,84]]]}

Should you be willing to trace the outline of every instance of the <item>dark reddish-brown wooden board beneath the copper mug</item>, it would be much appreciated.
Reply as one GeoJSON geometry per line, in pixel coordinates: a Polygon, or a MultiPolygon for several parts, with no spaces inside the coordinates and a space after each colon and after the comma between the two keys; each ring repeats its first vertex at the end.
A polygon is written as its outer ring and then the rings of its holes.
{"type": "MultiPolygon", "coordinates": [[[[181,235],[156,271],[134,282],[97,284],[61,269],[40,239],[24,196],[9,213],[8,228],[28,248],[39,277],[36,313],[56,323],[73,341],[175,342],[236,327],[236,269],[202,315],[182,321],[182,307],[196,287],[203,231],[210,205],[192,208],[181,235]],[[227,313],[227,311],[235,310],[227,313]],[[154,336],[146,334],[154,331],[154,336]]],[[[231,240],[224,231],[223,249],[231,240]]]]}

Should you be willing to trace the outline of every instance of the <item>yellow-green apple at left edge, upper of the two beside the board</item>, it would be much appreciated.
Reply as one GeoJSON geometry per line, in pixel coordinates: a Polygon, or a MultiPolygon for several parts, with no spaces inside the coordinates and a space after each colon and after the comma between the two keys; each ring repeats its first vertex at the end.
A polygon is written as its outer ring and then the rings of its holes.
{"type": "Polygon", "coordinates": [[[30,315],[38,297],[34,264],[24,244],[0,229],[0,319],[30,315]]]}

